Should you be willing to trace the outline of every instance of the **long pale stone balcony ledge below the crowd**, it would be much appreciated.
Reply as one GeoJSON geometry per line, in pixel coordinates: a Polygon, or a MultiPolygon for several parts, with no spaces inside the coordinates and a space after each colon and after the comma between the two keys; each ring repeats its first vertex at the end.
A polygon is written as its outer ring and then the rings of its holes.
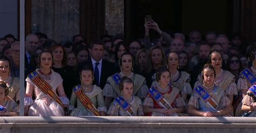
{"type": "Polygon", "coordinates": [[[254,117],[0,117],[0,132],[256,132],[254,117]],[[5,131],[6,130],[6,131],[5,131]]]}

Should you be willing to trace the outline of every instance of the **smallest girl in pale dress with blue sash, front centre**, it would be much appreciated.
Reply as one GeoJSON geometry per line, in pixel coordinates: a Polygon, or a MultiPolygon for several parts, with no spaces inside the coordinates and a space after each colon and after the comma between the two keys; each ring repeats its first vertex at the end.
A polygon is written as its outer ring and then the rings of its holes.
{"type": "Polygon", "coordinates": [[[124,76],[119,84],[122,95],[117,97],[109,108],[108,115],[111,116],[143,116],[142,100],[132,95],[132,79],[124,76]]]}

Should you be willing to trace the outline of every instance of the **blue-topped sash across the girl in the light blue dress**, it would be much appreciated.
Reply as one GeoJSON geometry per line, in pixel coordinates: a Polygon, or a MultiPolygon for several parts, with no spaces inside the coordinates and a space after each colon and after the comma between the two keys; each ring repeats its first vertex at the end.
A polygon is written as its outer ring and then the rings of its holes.
{"type": "Polygon", "coordinates": [[[198,86],[197,88],[195,88],[195,91],[199,94],[200,99],[204,101],[208,106],[210,106],[213,110],[217,111],[215,107],[220,108],[217,102],[213,98],[211,98],[210,94],[208,94],[208,92],[206,92],[203,87],[198,86]]]}

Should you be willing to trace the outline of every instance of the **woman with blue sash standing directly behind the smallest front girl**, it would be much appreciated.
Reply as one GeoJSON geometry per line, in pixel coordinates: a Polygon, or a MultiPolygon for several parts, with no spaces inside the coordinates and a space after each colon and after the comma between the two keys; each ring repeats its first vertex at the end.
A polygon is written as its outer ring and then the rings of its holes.
{"type": "Polygon", "coordinates": [[[126,76],[133,80],[133,95],[137,95],[140,99],[144,99],[147,94],[146,80],[143,76],[138,75],[132,71],[134,59],[131,54],[124,53],[119,60],[119,66],[121,72],[115,73],[114,75],[107,78],[107,84],[104,86],[103,95],[105,96],[105,105],[109,107],[112,99],[117,98],[121,95],[119,90],[119,83],[122,77],[126,76]]]}

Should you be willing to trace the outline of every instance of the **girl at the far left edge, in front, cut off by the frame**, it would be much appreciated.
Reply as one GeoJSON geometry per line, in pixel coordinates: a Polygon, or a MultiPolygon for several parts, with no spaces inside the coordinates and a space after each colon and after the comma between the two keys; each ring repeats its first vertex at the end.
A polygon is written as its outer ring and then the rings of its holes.
{"type": "Polygon", "coordinates": [[[18,116],[19,108],[14,100],[7,98],[9,88],[0,82],[0,116],[18,116]]]}

